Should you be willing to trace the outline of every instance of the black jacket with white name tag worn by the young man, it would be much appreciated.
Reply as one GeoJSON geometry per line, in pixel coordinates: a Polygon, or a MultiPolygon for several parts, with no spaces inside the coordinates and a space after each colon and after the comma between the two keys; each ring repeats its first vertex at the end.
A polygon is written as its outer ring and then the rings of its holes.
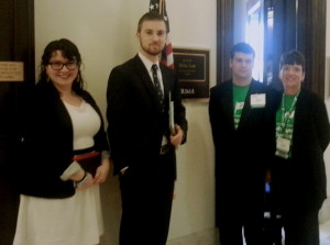
{"type": "Polygon", "coordinates": [[[232,81],[229,80],[210,90],[209,116],[216,147],[216,175],[228,181],[234,180],[233,177],[249,178],[253,181],[253,176],[260,176],[257,172],[266,168],[271,156],[276,92],[252,80],[240,124],[235,130],[232,86],[232,81]],[[264,108],[251,107],[251,94],[255,93],[266,94],[264,108]],[[249,176],[250,172],[253,176],[249,176]],[[239,174],[242,176],[238,176],[239,174]]]}

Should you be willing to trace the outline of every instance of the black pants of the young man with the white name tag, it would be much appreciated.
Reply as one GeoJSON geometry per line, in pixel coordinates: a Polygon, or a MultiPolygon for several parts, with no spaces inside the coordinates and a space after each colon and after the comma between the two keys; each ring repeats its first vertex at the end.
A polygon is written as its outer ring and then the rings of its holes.
{"type": "Polygon", "coordinates": [[[221,245],[242,245],[243,235],[248,245],[263,245],[264,186],[258,186],[218,194],[217,224],[221,245]]]}

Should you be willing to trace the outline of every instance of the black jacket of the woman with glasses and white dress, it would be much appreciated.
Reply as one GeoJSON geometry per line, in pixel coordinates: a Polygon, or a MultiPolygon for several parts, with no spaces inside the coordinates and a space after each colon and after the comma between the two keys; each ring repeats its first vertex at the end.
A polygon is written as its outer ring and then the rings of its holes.
{"type": "MultiPolygon", "coordinates": [[[[91,96],[81,98],[100,115],[101,126],[95,135],[98,151],[109,149],[103,120],[91,96]]],[[[57,90],[52,83],[37,85],[24,104],[20,149],[19,191],[42,198],[67,198],[75,193],[73,181],[59,176],[73,163],[73,124],[57,90]]]]}

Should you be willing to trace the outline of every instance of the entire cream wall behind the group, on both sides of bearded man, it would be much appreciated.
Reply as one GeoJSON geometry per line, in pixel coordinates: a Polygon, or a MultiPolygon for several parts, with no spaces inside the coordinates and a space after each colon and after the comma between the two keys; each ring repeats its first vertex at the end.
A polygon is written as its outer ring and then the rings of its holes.
{"type": "MultiPolygon", "coordinates": [[[[35,0],[36,65],[45,45],[61,37],[80,49],[88,90],[106,112],[106,88],[111,68],[138,52],[140,16],[148,0],[35,0]]],[[[170,40],[175,47],[210,49],[210,86],[216,83],[216,0],[167,0],[170,40]]],[[[169,241],[215,226],[213,145],[207,102],[185,102],[188,142],[177,151],[176,182],[169,241]]],[[[101,244],[118,242],[120,192],[117,177],[102,186],[106,234],[101,244]]]]}

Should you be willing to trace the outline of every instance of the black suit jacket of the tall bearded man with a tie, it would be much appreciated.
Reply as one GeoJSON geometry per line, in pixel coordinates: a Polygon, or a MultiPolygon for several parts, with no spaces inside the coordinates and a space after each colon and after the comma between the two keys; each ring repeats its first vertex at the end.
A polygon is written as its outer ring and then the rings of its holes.
{"type": "MultiPolygon", "coordinates": [[[[161,65],[164,82],[165,112],[162,113],[150,75],[139,55],[111,70],[108,82],[108,136],[114,174],[152,170],[160,156],[162,138],[169,137],[168,92],[175,104],[175,123],[187,135],[185,108],[175,73],[161,65]]],[[[175,149],[170,147],[172,175],[175,177],[175,149]]]]}

